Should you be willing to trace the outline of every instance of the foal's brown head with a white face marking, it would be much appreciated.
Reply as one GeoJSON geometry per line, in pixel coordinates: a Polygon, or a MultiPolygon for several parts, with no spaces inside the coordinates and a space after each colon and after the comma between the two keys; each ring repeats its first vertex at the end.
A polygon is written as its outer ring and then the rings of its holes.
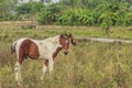
{"type": "Polygon", "coordinates": [[[62,48],[64,50],[64,54],[65,54],[65,55],[68,54],[69,44],[70,44],[70,43],[72,43],[73,45],[76,44],[76,42],[74,41],[72,34],[61,34],[61,36],[59,36],[59,42],[61,42],[62,48]]]}

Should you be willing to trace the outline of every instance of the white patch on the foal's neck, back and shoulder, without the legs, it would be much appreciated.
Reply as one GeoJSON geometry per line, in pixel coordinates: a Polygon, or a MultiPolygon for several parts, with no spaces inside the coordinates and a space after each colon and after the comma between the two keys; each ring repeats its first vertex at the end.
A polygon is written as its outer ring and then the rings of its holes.
{"type": "Polygon", "coordinates": [[[59,44],[59,36],[48,37],[43,41],[32,40],[38,46],[38,58],[50,59],[52,58],[53,53],[57,50],[57,47],[62,47],[59,44]]]}

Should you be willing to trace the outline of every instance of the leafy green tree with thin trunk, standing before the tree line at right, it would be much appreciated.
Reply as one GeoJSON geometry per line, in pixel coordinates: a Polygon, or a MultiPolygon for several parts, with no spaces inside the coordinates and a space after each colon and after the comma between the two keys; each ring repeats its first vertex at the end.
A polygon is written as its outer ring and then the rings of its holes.
{"type": "Polygon", "coordinates": [[[100,10],[99,22],[101,22],[102,28],[106,30],[106,34],[110,35],[110,26],[117,25],[125,21],[124,13],[128,10],[128,3],[124,1],[110,1],[98,6],[97,10],[100,10]]]}

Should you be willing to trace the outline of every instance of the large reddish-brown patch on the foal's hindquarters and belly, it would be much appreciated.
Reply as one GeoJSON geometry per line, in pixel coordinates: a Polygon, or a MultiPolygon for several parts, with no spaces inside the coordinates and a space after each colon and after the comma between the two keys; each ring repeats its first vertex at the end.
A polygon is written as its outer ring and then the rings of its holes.
{"type": "Polygon", "coordinates": [[[24,58],[30,57],[31,59],[38,58],[38,47],[37,45],[31,40],[24,40],[19,50],[19,62],[20,64],[24,58]]]}

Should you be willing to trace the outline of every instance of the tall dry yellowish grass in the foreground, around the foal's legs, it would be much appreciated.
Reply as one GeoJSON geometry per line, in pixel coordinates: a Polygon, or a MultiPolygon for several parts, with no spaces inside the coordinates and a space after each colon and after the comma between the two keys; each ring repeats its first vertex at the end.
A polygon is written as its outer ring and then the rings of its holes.
{"type": "MultiPolygon", "coordinates": [[[[53,77],[40,80],[43,59],[22,64],[22,88],[131,88],[132,46],[121,43],[78,42],[55,59],[53,77]]],[[[8,45],[0,51],[0,87],[15,88],[14,63],[8,45]]]]}

